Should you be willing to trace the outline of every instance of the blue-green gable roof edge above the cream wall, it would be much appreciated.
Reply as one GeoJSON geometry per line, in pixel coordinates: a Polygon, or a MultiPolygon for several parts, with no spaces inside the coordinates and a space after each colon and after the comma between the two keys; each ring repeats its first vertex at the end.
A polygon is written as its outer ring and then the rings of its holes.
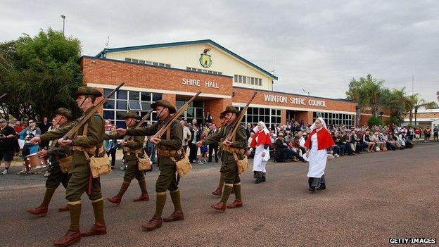
{"type": "Polygon", "coordinates": [[[106,49],[103,49],[101,52],[99,52],[95,57],[96,58],[104,58],[104,55],[106,53],[117,52],[117,51],[133,51],[133,50],[141,50],[141,49],[152,49],[152,48],[161,48],[161,47],[170,47],[170,46],[184,46],[184,45],[190,45],[190,44],[205,44],[205,43],[208,43],[208,44],[211,44],[212,46],[217,47],[218,49],[228,53],[229,55],[237,58],[238,60],[243,61],[244,63],[247,63],[248,65],[255,68],[256,70],[259,70],[260,72],[264,73],[265,75],[272,77],[274,80],[277,80],[276,75],[273,75],[272,73],[268,72],[267,70],[260,68],[259,66],[255,65],[254,63],[248,61],[246,58],[243,58],[243,57],[239,56],[238,54],[234,53],[233,51],[226,49],[224,46],[221,46],[220,44],[213,42],[211,39],[200,39],[200,40],[193,40],[193,41],[189,41],[189,42],[173,42],[173,43],[164,43],[164,44],[148,44],[148,45],[144,45],[144,46],[127,46],[127,47],[120,47],[120,48],[106,48],[106,49]]]}

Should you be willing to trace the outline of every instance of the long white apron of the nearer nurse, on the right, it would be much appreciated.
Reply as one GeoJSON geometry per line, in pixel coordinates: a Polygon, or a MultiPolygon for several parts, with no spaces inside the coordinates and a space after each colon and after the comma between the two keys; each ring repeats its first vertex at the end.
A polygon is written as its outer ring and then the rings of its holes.
{"type": "Polygon", "coordinates": [[[308,177],[322,177],[326,168],[326,160],[328,152],[326,149],[317,150],[317,132],[311,137],[311,149],[309,153],[310,167],[308,169],[308,177]]]}

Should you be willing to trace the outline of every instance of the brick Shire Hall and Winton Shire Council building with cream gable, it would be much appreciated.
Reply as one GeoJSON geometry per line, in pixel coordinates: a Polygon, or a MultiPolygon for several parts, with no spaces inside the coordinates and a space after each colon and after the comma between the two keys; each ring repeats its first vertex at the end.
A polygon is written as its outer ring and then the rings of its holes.
{"type": "MultiPolygon", "coordinates": [[[[327,124],[355,125],[357,103],[273,91],[277,77],[210,39],[104,49],[96,56],[83,56],[84,83],[107,94],[125,82],[103,107],[103,117],[123,126],[127,110],[141,115],[159,99],[182,106],[202,91],[182,118],[202,121],[206,113],[217,115],[226,106],[242,108],[257,91],[244,121],[284,125],[291,118],[312,123],[321,113],[327,124]]],[[[151,121],[156,120],[155,113],[151,121]]]]}

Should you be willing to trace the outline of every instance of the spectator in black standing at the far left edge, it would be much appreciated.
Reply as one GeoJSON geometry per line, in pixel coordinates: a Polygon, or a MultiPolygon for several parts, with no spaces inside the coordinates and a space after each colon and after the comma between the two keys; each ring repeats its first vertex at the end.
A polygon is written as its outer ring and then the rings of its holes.
{"type": "Polygon", "coordinates": [[[0,119],[0,167],[1,162],[4,160],[5,169],[1,172],[1,175],[9,173],[9,167],[13,160],[13,154],[15,151],[15,143],[17,142],[15,130],[8,125],[6,119],[0,119]]]}

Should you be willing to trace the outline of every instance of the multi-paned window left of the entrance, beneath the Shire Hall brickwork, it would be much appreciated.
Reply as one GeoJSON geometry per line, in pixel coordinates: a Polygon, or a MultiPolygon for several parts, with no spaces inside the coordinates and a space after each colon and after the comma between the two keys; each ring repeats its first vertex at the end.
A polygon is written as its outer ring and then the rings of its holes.
{"type": "MultiPolygon", "coordinates": [[[[104,94],[110,93],[113,89],[103,89],[104,94]]],[[[145,115],[151,110],[151,103],[162,99],[162,94],[156,94],[146,91],[127,91],[119,90],[104,104],[103,118],[109,119],[117,127],[125,127],[123,116],[127,110],[134,110],[137,114],[145,115]]],[[[151,114],[147,122],[157,121],[157,115],[151,114]]]]}

